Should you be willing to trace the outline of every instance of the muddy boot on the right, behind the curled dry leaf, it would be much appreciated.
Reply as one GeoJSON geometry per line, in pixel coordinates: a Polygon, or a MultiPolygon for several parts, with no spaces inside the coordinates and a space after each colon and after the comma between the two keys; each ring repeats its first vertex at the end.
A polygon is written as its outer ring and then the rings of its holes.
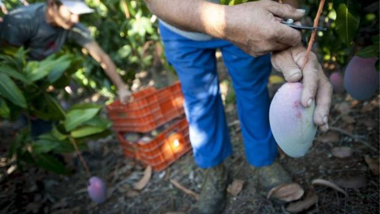
{"type": "MultiPolygon", "coordinates": [[[[256,168],[256,172],[258,173],[259,183],[261,186],[261,194],[267,195],[268,192],[282,184],[290,184],[293,183],[291,177],[287,171],[278,163],[273,162],[270,166],[258,167],[256,168]]],[[[283,203],[277,198],[271,198],[274,202],[283,203]]]]}

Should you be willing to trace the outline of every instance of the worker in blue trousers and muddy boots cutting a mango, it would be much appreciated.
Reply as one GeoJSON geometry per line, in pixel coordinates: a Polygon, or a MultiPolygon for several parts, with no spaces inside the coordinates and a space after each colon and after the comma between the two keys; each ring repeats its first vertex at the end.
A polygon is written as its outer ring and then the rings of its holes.
{"type": "Polygon", "coordinates": [[[290,175],[275,162],[277,147],[269,127],[271,60],[287,81],[303,78],[301,103],[309,107],[315,100],[314,122],[325,130],[332,93],[313,53],[301,69],[306,55],[301,31],[280,23],[280,19],[299,20],[305,11],[270,0],[236,6],[220,5],[219,0],[145,2],[161,19],[166,58],[182,85],[194,159],[206,171],[197,213],[223,210],[228,185],[223,161],[232,154],[216,70],[217,48],[236,92],[247,161],[258,173],[261,187],[268,192],[291,183],[290,175]]]}

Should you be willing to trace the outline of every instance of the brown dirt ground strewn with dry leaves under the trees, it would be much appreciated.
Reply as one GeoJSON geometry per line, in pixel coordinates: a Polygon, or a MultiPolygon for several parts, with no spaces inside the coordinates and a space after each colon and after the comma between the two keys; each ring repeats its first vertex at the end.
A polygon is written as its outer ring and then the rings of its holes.
{"type": "MultiPolygon", "coordinates": [[[[227,78],[223,68],[220,70],[220,78],[227,78]]],[[[268,86],[273,96],[280,84],[268,86]]],[[[223,213],[288,213],[285,208],[289,204],[278,205],[259,194],[256,175],[245,161],[233,103],[226,105],[226,115],[234,148],[234,155],[226,164],[233,179],[244,180],[244,185],[236,196],[228,194],[223,213]]],[[[379,177],[365,161],[366,155],[374,159],[379,157],[379,96],[357,102],[346,94],[334,95],[329,121],[331,130],[326,134],[317,133],[306,156],[290,158],[279,152],[278,160],[305,194],[314,191],[318,197],[315,205],[300,213],[379,213],[379,177]],[[350,147],[352,154],[337,158],[333,148],[343,146],[350,147]],[[315,179],[337,183],[347,195],[326,185],[313,185],[315,179]]],[[[107,183],[108,199],[97,205],[87,195],[88,177],[75,154],[64,157],[72,172],[70,176],[55,175],[35,167],[24,173],[12,171],[13,165],[6,162],[6,156],[9,142],[17,130],[11,127],[12,124],[0,122],[1,213],[181,214],[187,213],[196,199],[170,181],[175,180],[195,193],[201,191],[203,174],[195,166],[192,152],[167,169],[153,172],[141,191],[133,190],[133,184],[144,174],[144,167],[125,158],[116,137],[109,136],[89,142],[89,150],[82,152],[92,174],[107,183]]]]}

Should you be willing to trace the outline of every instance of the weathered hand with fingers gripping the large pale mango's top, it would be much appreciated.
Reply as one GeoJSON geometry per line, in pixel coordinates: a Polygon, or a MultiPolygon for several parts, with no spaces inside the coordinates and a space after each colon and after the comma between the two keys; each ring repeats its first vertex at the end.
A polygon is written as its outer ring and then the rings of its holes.
{"type": "Polygon", "coordinates": [[[287,50],[272,53],[274,69],[281,71],[288,82],[297,82],[302,78],[301,104],[309,107],[315,99],[314,123],[322,131],[328,130],[328,114],[331,106],[332,85],[323,73],[317,56],[310,52],[309,59],[301,71],[306,56],[306,48],[296,45],[287,50]]]}

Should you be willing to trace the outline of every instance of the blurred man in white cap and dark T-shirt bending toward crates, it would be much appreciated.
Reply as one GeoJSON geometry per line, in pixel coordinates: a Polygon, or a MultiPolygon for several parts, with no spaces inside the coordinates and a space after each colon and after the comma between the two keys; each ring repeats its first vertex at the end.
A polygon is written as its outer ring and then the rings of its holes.
{"type": "MultiPolygon", "coordinates": [[[[22,2],[27,4],[26,1],[22,2]]],[[[0,47],[24,46],[30,49],[31,59],[42,60],[59,51],[65,42],[75,42],[86,48],[100,63],[116,85],[120,100],[125,102],[130,91],[116,72],[114,62],[91,38],[89,30],[79,23],[79,15],[90,12],[93,10],[81,0],[48,0],[47,3],[19,6],[3,17],[0,24],[0,47]]]]}

